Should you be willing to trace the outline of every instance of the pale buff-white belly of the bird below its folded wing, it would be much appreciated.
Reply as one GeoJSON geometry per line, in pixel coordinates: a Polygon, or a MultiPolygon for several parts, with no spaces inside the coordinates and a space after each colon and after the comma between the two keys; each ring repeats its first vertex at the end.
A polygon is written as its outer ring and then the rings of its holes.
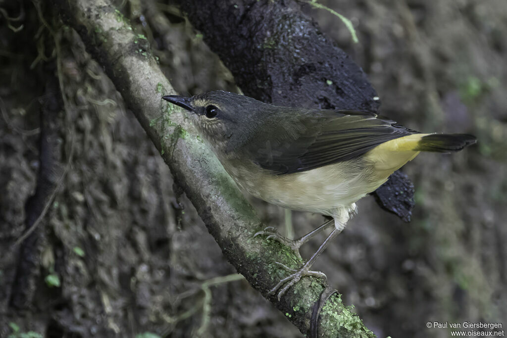
{"type": "Polygon", "coordinates": [[[333,215],[337,208],[352,205],[383,183],[372,179],[370,167],[360,160],[286,175],[238,169],[227,171],[253,196],[288,209],[325,215],[333,215]]]}

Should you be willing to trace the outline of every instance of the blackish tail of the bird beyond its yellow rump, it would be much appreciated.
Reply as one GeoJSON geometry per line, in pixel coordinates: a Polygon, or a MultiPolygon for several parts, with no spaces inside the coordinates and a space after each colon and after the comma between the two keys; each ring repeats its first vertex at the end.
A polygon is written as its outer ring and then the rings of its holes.
{"type": "Polygon", "coordinates": [[[476,142],[477,138],[468,134],[430,134],[423,136],[414,150],[438,153],[458,152],[476,142]]]}

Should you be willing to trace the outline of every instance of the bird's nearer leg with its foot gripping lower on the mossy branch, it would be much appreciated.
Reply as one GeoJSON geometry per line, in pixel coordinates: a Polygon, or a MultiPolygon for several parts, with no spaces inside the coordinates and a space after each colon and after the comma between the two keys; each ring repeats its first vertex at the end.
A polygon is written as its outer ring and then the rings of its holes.
{"type": "MultiPolygon", "coordinates": [[[[325,225],[325,223],[321,227],[323,227],[324,225],[325,225]]],[[[293,274],[291,274],[291,275],[285,277],[284,279],[282,279],[281,281],[279,281],[278,284],[276,284],[275,287],[273,287],[269,291],[268,294],[274,294],[276,291],[278,291],[278,289],[281,288],[280,291],[278,292],[278,300],[280,300],[280,297],[285,292],[287,292],[287,290],[291,286],[293,286],[294,284],[299,282],[299,280],[304,276],[313,276],[313,277],[318,277],[318,278],[322,278],[324,280],[327,280],[328,277],[326,277],[323,273],[321,273],[319,271],[311,271],[310,268],[313,265],[313,263],[315,262],[315,260],[320,256],[320,254],[325,250],[325,248],[333,240],[333,238],[335,238],[339,233],[341,233],[343,231],[343,229],[344,229],[344,227],[341,227],[340,229],[335,228],[331,232],[331,234],[328,236],[328,238],[325,239],[325,241],[322,243],[322,245],[320,245],[318,250],[313,254],[313,256],[310,257],[310,259],[308,259],[308,261],[305,263],[305,265],[301,269],[299,269],[299,270],[291,269],[291,268],[277,262],[277,264],[280,265],[283,269],[285,269],[286,271],[289,271],[289,272],[293,272],[293,274]]]]}

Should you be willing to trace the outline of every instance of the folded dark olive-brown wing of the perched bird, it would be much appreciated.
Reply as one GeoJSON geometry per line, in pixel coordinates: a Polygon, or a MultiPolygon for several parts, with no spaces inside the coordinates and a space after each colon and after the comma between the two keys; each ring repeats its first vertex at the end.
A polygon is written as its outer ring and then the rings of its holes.
{"type": "Polygon", "coordinates": [[[266,170],[291,174],[356,158],[380,143],[413,133],[369,112],[301,110],[270,119],[242,150],[266,170]]]}

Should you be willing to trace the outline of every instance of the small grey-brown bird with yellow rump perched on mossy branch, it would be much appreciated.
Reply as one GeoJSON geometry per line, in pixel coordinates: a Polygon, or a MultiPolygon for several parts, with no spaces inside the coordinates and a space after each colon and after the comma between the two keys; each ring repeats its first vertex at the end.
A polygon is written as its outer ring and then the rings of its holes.
{"type": "Polygon", "coordinates": [[[271,289],[271,294],[279,290],[278,299],[303,276],[325,278],[310,270],[314,261],[345,229],[357,210],[355,202],[395,170],[420,152],[457,152],[476,143],[472,135],[423,134],[372,112],[282,107],[224,91],[163,99],[190,112],[198,132],[243,190],[284,208],[333,218],[297,240],[272,227],[255,234],[289,245],[299,255],[302,244],[334,225],[301,269],[280,264],[291,274],[271,289]]]}

